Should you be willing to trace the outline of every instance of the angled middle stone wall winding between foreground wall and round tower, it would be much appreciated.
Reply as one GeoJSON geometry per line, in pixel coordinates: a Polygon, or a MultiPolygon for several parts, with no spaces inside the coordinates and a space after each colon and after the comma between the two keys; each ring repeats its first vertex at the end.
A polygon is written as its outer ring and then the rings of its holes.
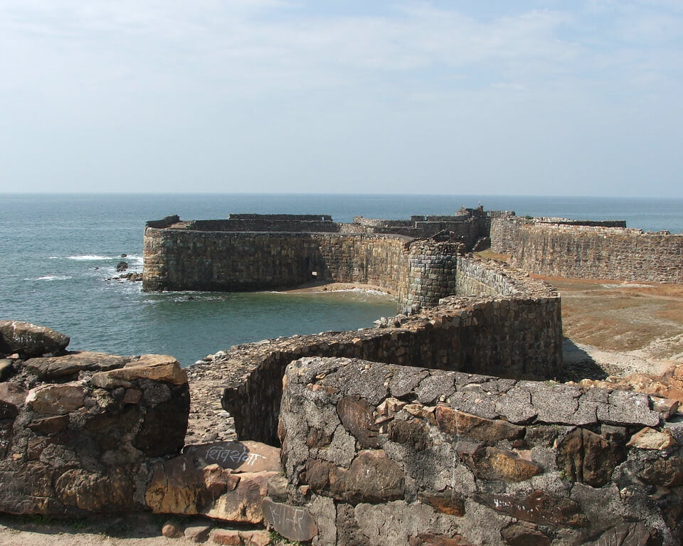
{"type": "MultiPolygon", "coordinates": [[[[483,262],[469,260],[477,283],[485,282],[480,274],[483,262]]],[[[223,407],[234,417],[238,437],[266,442],[276,439],[285,367],[302,356],[364,358],[507,378],[556,377],[562,366],[557,292],[522,272],[490,263],[517,287],[517,294],[452,296],[418,315],[398,315],[380,328],[236,346],[216,353],[196,370],[221,370],[226,385],[223,407]]],[[[504,284],[499,278],[496,282],[504,284]]]]}

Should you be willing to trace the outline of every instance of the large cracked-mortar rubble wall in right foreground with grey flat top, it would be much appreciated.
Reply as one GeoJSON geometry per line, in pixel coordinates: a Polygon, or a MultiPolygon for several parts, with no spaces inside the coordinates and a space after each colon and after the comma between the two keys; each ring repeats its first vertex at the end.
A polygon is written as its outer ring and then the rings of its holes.
{"type": "Polygon", "coordinates": [[[314,545],[677,545],[683,426],[647,395],[344,358],[290,364],[314,545]]]}

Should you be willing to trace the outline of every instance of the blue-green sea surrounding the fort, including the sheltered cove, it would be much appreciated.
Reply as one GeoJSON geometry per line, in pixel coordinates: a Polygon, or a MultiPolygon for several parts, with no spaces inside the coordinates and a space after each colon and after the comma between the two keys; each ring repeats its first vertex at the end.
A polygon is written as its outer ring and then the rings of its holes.
{"type": "Polygon", "coordinates": [[[146,294],[118,283],[127,254],[142,269],[144,222],[225,218],[229,213],[408,218],[482,203],[519,215],[625,219],[630,227],[683,231],[683,200],[512,196],[0,195],[0,318],[51,326],[70,348],[167,353],[187,365],[236,343],[370,326],[395,314],[388,296],[332,294],[146,294]]]}

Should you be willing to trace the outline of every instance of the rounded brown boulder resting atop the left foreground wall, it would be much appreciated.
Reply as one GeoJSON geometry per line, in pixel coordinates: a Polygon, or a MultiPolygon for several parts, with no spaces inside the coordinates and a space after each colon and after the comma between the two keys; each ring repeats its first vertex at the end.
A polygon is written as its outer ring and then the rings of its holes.
{"type": "Polygon", "coordinates": [[[0,321],[0,354],[18,353],[23,357],[61,353],[70,338],[63,333],[29,322],[0,321]]]}

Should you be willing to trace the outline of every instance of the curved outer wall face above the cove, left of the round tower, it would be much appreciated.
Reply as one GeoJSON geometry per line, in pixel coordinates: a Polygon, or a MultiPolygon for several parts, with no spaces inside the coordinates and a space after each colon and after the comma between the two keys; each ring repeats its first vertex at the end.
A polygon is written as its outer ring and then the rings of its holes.
{"type": "Polygon", "coordinates": [[[407,241],[400,235],[147,227],[143,289],[249,291],[326,279],[396,293],[406,280],[407,241]]]}

